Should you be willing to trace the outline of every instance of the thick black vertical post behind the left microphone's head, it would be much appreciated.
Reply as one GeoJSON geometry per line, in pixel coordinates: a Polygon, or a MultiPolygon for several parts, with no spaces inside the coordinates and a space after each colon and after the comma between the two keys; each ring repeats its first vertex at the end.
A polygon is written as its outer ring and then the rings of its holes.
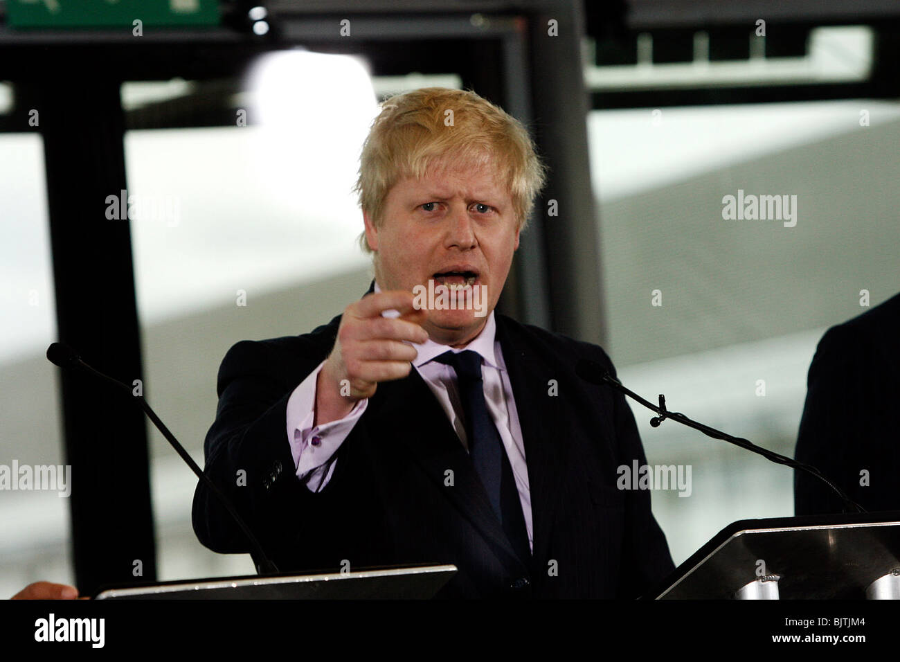
{"type": "MultiPolygon", "coordinates": [[[[142,374],[130,226],[106,218],[107,197],[126,188],[119,84],[73,73],[28,92],[44,139],[59,340],[131,384],[142,374]]],[[[89,376],[64,371],[61,384],[78,589],[155,581],[144,414],[89,376]]]]}

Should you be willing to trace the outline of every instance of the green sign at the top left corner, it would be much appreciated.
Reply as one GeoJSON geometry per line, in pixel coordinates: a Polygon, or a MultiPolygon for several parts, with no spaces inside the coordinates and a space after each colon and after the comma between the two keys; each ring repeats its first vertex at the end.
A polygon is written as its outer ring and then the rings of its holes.
{"type": "Polygon", "coordinates": [[[6,0],[14,28],[218,25],[219,0],[6,0]]]}

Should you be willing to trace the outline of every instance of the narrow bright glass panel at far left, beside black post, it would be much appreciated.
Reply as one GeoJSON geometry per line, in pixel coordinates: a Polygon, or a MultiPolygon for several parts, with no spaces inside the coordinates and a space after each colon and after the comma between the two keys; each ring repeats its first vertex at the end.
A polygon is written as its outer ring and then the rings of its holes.
{"type": "MultiPolygon", "coordinates": [[[[3,86],[0,106],[11,98],[3,86]]],[[[45,356],[57,328],[37,133],[0,133],[0,236],[0,598],[8,598],[40,579],[74,584],[66,472],[49,473],[63,449],[58,368],[45,356]]]]}

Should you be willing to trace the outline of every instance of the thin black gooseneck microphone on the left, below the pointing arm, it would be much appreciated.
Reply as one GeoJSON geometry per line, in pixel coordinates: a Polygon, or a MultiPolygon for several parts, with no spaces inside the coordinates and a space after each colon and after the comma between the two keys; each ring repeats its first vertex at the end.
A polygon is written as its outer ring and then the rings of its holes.
{"type": "Polygon", "coordinates": [[[159,420],[156,412],[154,412],[150,408],[150,405],[148,404],[147,400],[144,399],[143,395],[134,395],[129,385],[122,384],[117,379],[113,379],[111,376],[104,375],[99,370],[96,370],[94,369],[94,367],[86,364],[81,359],[81,357],[78,356],[76,350],[72,349],[64,342],[54,342],[50,344],[49,348],[47,348],[47,358],[49,359],[50,363],[53,363],[58,367],[70,368],[74,370],[84,370],[85,372],[99,377],[100,379],[103,379],[103,381],[108,382],[109,384],[112,384],[117,388],[123,389],[126,393],[129,394],[130,397],[136,398],[138,400],[138,403],[140,404],[141,409],[143,409],[144,413],[147,414],[148,419],[150,419],[150,421],[152,421],[153,424],[157,426],[157,430],[162,432],[166,440],[172,445],[172,448],[175,449],[175,452],[181,456],[184,462],[187,463],[188,467],[191,467],[193,473],[196,474],[196,476],[202,481],[202,483],[210,489],[210,492],[212,494],[215,494],[215,497],[219,500],[219,503],[221,503],[225,507],[225,510],[227,510],[234,521],[237,522],[240,530],[243,531],[244,535],[247,536],[250,547],[253,548],[253,551],[260,559],[259,567],[257,567],[257,571],[259,572],[259,574],[262,575],[264,574],[264,572],[278,572],[278,568],[275,567],[275,563],[273,563],[266,556],[266,552],[263,551],[263,548],[259,544],[256,536],[253,535],[253,532],[250,531],[247,523],[240,517],[238,511],[229,501],[229,498],[225,496],[225,494],[222,494],[215,483],[211,481],[210,476],[207,476],[205,473],[203,473],[202,469],[197,466],[197,463],[193,461],[193,458],[190,456],[190,454],[188,454],[188,452],[184,450],[184,446],[182,446],[178,442],[178,440],[175,439],[175,435],[172,434],[172,432],[170,432],[168,428],[166,428],[166,425],[159,420]]]}

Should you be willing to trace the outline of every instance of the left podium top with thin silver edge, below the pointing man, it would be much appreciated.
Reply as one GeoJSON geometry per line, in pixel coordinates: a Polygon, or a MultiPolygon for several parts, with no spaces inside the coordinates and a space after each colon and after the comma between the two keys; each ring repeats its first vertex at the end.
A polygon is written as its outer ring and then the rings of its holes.
{"type": "Polygon", "coordinates": [[[365,600],[434,597],[451,565],[379,567],[311,575],[248,575],[101,588],[95,600],[365,600]]]}

